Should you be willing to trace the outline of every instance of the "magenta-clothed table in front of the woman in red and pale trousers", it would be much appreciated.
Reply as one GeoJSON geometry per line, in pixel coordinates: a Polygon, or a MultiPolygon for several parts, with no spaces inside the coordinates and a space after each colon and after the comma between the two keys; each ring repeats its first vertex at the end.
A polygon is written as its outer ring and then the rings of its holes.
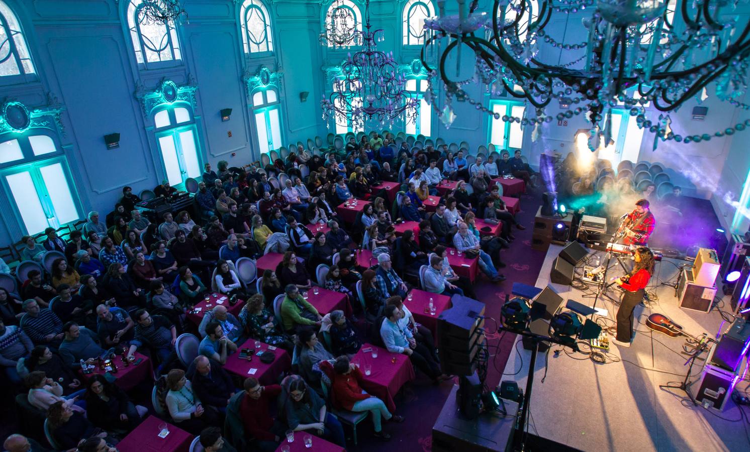
{"type": "Polygon", "coordinates": [[[393,398],[404,383],[415,377],[409,357],[365,343],[354,355],[352,362],[359,364],[362,376],[365,377],[366,384],[362,389],[383,400],[390,412],[395,413],[396,403],[393,398]],[[372,352],[363,352],[366,349],[377,349],[377,358],[373,358],[372,352]],[[372,367],[370,375],[365,375],[365,364],[372,367]]]}

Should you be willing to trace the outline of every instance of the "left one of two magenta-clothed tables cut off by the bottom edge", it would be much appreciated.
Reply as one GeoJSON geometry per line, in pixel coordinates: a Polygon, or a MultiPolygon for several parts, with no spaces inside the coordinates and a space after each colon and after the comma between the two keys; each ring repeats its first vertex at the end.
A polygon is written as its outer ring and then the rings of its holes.
{"type": "MultiPolygon", "coordinates": [[[[165,424],[156,416],[148,416],[138,427],[117,443],[120,452],[187,452],[193,436],[169,424],[169,435],[159,436],[159,426],[165,424]]],[[[304,446],[303,446],[304,447],[304,446]]]]}

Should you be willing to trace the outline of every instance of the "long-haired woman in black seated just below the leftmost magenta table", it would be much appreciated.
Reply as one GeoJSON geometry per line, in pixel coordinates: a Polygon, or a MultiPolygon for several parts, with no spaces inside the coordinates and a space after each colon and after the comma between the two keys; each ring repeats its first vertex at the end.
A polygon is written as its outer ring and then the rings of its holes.
{"type": "MultiPolygon", "coordinates": [[[[95,374],[86,382],[86,415],[96,427],[114,432],[130,433],[142,418],[130,397],[104,376],[95,374]]],[[[141,407],[142,412],[147,412],[141,407]]]]}

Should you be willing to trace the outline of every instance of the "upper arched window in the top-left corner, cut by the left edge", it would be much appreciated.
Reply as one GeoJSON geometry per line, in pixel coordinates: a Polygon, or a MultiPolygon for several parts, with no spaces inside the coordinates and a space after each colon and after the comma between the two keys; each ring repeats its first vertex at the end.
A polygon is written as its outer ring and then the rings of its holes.
{"type": "Polygon", "coordinates": [[[36,73],[21,26],[4,1],[0,0],[0,77],[36,73]]]}

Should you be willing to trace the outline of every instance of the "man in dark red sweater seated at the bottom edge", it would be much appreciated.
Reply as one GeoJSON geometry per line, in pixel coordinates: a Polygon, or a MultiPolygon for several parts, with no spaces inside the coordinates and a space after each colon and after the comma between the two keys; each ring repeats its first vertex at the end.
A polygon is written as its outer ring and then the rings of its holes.
{"type": "Polygon", "coordinates": [[[269,406],[281,394],[281,386],[261,386],[257,379],[245,380],[245,397],[240,405],[240,415],[245,423],[245,433],[253,451],[274,452],[284,436],[284,426],[274,421],[269,406]]]}

